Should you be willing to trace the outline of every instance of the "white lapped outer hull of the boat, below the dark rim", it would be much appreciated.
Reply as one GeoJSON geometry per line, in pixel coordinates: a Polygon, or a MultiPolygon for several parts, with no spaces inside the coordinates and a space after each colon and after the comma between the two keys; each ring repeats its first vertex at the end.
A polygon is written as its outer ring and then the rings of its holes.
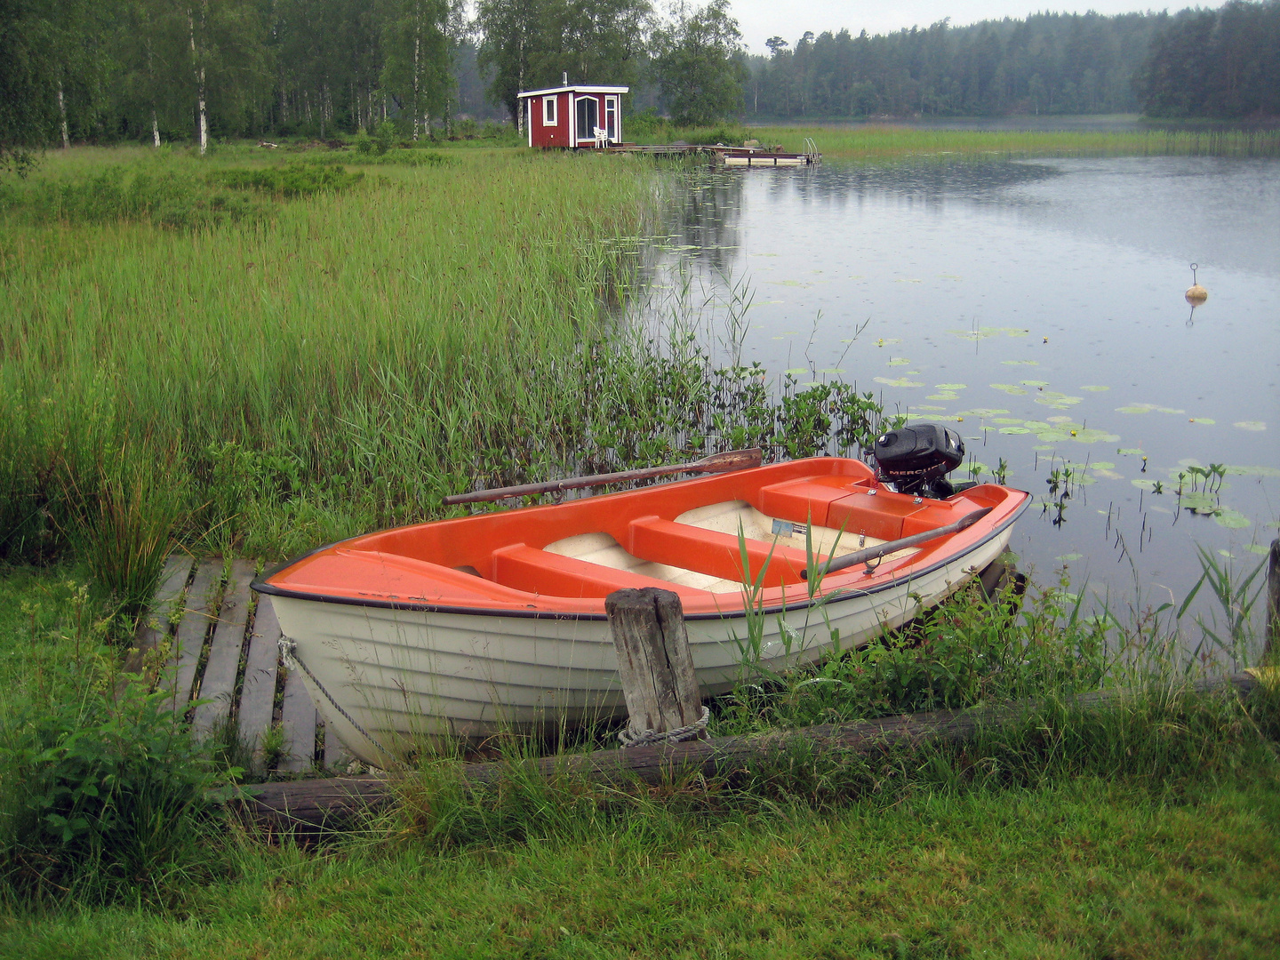
{"type": "MultiPolygon", "coordinates": [[[[686,621],[698,680],[730,690],[751,662],[778,671],[833,648],[865,645],[954,593],[1006,548],[1006,526],[973,550],[870,594],[767,613],[759,650],[737,616],[686,621]],[[748,666],[744,666],[746,660],[748,666]]],[[[325,728],[387,767],[440,736],[480,739],[625,712],[608,621],[449,613],[270,596],[325,728]],[[340,705],[340,709],[338,708],[340,705]]],[[[737,599],[737,598],[735,598],[737,599]]]]}

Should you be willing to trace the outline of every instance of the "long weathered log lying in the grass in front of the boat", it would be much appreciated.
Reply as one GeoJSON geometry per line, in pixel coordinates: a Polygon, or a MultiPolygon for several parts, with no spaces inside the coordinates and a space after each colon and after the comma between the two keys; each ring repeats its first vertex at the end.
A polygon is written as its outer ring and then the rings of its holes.
{"type": "MultiPolygon", "coordinates": [[[[1247,696],[1258,681],[1249,673],[1197,681],[1193,694],[1235,690],[1247,696]]],[[[1101,690],[1076,698],[1080,708],[1115,704],[1130,690],[1101,690]]],[[[922,744],[956,744],[972,740],[982,730],[1016,723],[1036,708],[1034,703],[1010,704],[979,710],[933,710],[902,717],[881,717],[858,723],[824,724],[763,736],[714,737],[681,744],[599,750],[593,754],[545,756],[526,760],[524,772],[543,777],[577,776],[593,781],[659,786],[680,777],[703,776],[732,780],[753,763],[767,760],[803,741],[818,751],[842,750],[860,754],[922,744]]],[[[504,762],[462,764],[465,783],[489,786],[511,776],[504,762]]],[[[379,777],[332,777],[264,783],[246,787],[237,805],[252,823],[271,831],[294,831],[315,836],[342,829],[371,810],[385,809],[396,797],[396,783],[379,777]]]]}

